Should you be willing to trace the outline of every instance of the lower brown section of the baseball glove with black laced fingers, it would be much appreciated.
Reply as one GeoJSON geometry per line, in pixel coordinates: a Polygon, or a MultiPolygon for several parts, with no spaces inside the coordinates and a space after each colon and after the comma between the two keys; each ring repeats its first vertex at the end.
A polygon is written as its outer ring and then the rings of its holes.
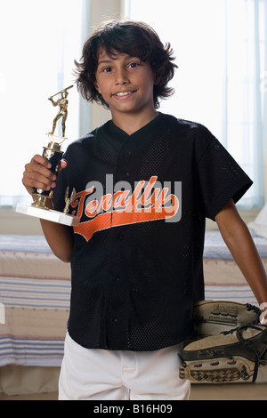
{"type": "Polygon", "coordinates": [[[267,366],[267,326],[242,325],[187,345],[180,377],[192,382],[224,383],[252,377],[267,366]]]}

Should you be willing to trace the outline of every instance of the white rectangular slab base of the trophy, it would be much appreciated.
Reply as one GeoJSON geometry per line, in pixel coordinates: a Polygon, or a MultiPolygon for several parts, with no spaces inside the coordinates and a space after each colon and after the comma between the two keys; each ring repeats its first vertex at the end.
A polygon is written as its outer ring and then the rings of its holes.
{"type": "Polygon", "coordinates": [[[16,212],[30,216],[36,216],[36,218],[44,219],[46,221],[61,223],[69,227],[77,226],[80,221],[80,218],[77,216],[69,215],[68,213],[57,212],[53,211],[52,209],[43,209],[41,207],[36,207],[24,203],[19,203],[17,205],[16,212]]]}

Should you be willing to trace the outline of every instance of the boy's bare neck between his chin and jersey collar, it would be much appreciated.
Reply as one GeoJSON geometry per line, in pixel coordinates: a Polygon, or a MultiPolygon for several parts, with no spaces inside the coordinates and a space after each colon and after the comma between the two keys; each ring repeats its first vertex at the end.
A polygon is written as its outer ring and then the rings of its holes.
{"type": "Polygon", "coordinates": [[[142,113],[141,115],[113,114],[112,112],[111,114],[114,125],[125,131],[125,133],[128,133],[128,135],[139,131],[142,126],[149,124],[151,120],[158,117],[158,111],[156,109],[151,109],[150,112],[142,113]]]}

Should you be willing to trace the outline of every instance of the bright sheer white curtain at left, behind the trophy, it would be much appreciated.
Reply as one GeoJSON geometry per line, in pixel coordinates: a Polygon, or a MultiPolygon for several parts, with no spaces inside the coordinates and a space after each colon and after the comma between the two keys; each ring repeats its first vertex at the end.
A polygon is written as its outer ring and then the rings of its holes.
{"type": "MultiPolygon", "coordinates": [[[[24,165],[47,144],[53,108],[48,97],[73,84],[88,25],[87,0],[0,2],[0,205],[29,199],[24,165]]],[[[69,90],[66,136],[79,136],[80,98],[69,90]]],[[[68,142],[69,142],[68,141],[68,142]]]]}

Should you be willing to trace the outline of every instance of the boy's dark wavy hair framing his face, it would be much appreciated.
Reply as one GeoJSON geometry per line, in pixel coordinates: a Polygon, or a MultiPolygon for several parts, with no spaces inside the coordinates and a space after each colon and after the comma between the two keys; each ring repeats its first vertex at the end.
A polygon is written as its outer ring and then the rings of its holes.
{"type": "Polygon", "coordinates": [[[168,82],[174,76],[173,49],[167,43],[162,44],[158,34],[149,25],[134,20],[109,20],[93,30],[85,41],[80,62],[75,60],[77,90],[87,101],[96,101],[105,108],[109,105],[94,87],[98,56],[101,49],[110,56],[126,53],[149,62],[155,73],[157,84],[154,84],[154,107],[158,109],[159,100],[166,99],[174,93],[168,82]]]}

